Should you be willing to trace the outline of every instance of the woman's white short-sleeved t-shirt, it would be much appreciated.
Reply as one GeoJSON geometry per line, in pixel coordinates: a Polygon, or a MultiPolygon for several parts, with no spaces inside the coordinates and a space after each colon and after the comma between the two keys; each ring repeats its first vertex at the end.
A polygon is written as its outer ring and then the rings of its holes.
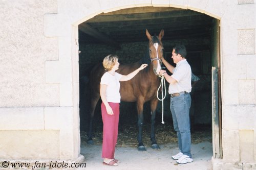
{"type": "Polygon", "coordinates": [[[105,72],[101,77],[100,84],[105,84],[106,86],[106,101],[113,103],[120,103],[120,82],[122,75],[115,72],[115,75],[111,75],[109,72],[105,72]]]}

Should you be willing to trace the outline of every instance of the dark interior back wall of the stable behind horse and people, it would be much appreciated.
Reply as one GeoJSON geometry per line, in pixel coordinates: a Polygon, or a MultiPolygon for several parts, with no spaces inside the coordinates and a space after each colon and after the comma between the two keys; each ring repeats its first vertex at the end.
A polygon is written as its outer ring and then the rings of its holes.
{"type": "MultiPolygon", "coordinates": [[[[160,30],[159,30],[160,31],[160,30]]],[[[146,35],[145,35],[146,36],[146,35]]],[[[188,62],[190,63],[194,74],[201,78],[200,82],[194,87],[195,95],[193,95],[193,109],[191,111],[191,116],[195,120],[195,124],[211,124],[211,97],[210,97],[210,54],[209,51],[202,51],[201,46],[210,46],[211,40],[209,38],[190,38],[190,39],[174,39],[174,40],[164,40],[164,57],[168,61],[172,61],[171,54],[173,47],[176,44],[184,44],[188,48],[188,62]],[[195,47],[195,48],[194,48],[195,47]],[[194,52],[196,51],[196,53],[194,52]],[[201,62],[201,60],[203,62],[201,62]],[[205,67],[205,68],[204,68],[205,67]],[[205,102],[206,101],[206,102],[205,102]],[[192,113],[193,112],[193,113],[192,113]]],[[[96,63],[102,62],[103,58],[109,54],[116,54],[119,56],[120,64],[134,63],[144,57],[147,50],[148,41],[144,42],[133,42],[133,43],[121,43],[121,49],[117,50],[108,45],[103,44],[79,44],[79,77],[80,77],[80,130],[86,129],[87,115],[89,110],[89,100],[90,96],[87,91],[89,90],[86,86],[88,85],[84,80],[89,78],[90,70],[96,63]]],[[[209,49],[208,49],[209,50],[209,49]]],[[[166,82],[166,87],[168,88],[168,83],[166,82]]],[[[167,90],[168,91],[168,90],[167,90]]],[[[123,104],[120,111],[122,115],[131,114],[126,113],[127,110],[131,110],[131,107],[135,107],[133,112],[136,112],[136,106],[132,104],[123,104]],[[129,109],[127,109],[129,108],[129,109]]],[[[100,106],[98,106],[100,107],[100,106]]],[[[150,113],[150,106],[145,107],[145,112],[150,113]],[[148,109],[147,109],[148,108],[148,109]]],[[[100,111],[100,109],[96,109],[100,111]]],[[[157,112],[162,113],[162,104],[159,102],[157,112]]],[[[150,116],[150,114],[144,114],[145,116],[150,116]]],[[[95,113],[100,115],[100,113],[95,113]]],[[[164,101],[164,114],[166,117],[171,118],[169,110],[169,99],[166,98],[164,101]]],[[[157,114],[157,116],[161,114],[157,114]]],[[[134,115],[135,120],[137,115],[134,115]]],[[[100,116],[98,116],[101,119],[100,116]]],[[[125,117],[126,119],[127,117],[125,117]]],[[[120,117],[122,119],[122,117],[120,117]]]]}

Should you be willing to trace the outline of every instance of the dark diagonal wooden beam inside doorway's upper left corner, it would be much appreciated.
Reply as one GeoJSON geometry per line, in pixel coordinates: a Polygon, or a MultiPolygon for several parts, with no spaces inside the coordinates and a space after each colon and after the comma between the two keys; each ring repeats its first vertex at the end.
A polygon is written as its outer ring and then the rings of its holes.
{"type": "Polygon", "coordinates": [[[98,39],[101,42],[104,42],[108,45],[114,46],[116,48],[121,48],[121,46],[119,45],[119,43],[117,43],[116,41],[112,40],[111,38],[109,38],[108,36],[102,34],[101,32],[98,32],[96,29],[92,28],[90,25],[88,25],[87,23],[83,22],[79,25],[79,30],[98,39]]]}

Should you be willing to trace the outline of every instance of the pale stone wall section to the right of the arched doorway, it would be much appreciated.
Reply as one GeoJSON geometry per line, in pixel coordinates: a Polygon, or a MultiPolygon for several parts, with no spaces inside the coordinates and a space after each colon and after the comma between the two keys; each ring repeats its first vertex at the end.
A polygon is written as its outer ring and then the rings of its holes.
{"type": "Polygon", "coordinates": [[[250,163],[256,162],[256,126],[251,122],[256,113],[252,68],[256,63],[256,5],[241,0],[230,7],[221,19],[222,165],[228,162],[240,165],[238,169],[255,169],[250,163]]]}

